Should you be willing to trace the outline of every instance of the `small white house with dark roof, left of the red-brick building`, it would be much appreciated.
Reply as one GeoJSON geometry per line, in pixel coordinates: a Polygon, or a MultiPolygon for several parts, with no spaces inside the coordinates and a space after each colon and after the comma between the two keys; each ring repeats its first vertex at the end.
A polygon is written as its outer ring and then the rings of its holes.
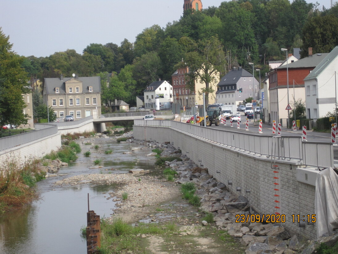
{"type": "Polygon", "coordinates": [[[144,89],[144,108],[155,108],[155,98],[159,99],[160,109],[170,108],[172,85],[167,81],[154,81],[144,89]]]}

